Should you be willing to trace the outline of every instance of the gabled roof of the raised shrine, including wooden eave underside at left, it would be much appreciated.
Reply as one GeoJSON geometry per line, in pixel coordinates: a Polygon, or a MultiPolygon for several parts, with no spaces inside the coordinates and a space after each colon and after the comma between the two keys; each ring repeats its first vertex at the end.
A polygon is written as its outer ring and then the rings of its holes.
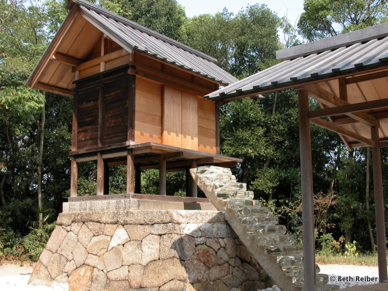
{"type": "Polygon", "coordinates": [[[65,55],[68,60],[81,63],[95,44],[85,41],[85,37],[92,40],[97,39],[97,34],[101,32],[128,53],[133,50],[145,53],[222,85],[238,81],[218,67],[215,64],[216,59],[200,51],[113,14],[86,0],[75,0],[74,2],[75,5],[71,8],[48,49],[32,71],[26,86],[44,88],[47,85],[47,88],[51,86],[58,88],[58,91],[63,90],[64,94],[71,90],[74,73],[71,67],[69,70],[69,68],[62,68],[59,67],[61,65],[54,64],[55,54],[65,55]],[[77,29],[79,31],[75,32],[77,29]],[[67,45],[63,42],[66,42],[67,45]],[[55,71],[58,71],[55,72],[57,77],[45,76],[45,69],[48,70],[49,67],[52,70],[55,67],[55,71]],[[41,83],[41,86],[37,83],[41,83]]]}

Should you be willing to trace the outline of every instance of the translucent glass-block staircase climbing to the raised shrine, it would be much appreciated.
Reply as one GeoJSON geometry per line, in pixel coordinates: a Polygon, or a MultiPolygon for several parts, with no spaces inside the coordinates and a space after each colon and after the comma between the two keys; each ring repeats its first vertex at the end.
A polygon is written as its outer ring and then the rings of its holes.
{"type": "MultiPolygon", "coordinates": [[[[217,210],[225,211],[225,218],[263,269],[283,291],[303,289],[303,246],[286,235],[286,226],[254,200],[246,184],[238,183],[230,169],[215,166],[190,170],[199,188],[217,210]]],[[[337,285],[327,285],[328,275],[319,274],[315,266],[317,291],[337,290],[337,285]]]]}

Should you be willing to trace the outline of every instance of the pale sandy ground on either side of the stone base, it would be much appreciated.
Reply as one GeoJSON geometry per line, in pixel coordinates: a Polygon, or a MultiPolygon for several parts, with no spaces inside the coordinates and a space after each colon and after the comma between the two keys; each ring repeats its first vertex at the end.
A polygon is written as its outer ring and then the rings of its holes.
{"type": "MultiPolygon", "coordinates": [[[[19,266],[15,264],[3,263],[0,265],[0,290],[4,291],[67,291],[64,286],[56,286],[55,288],[46,286],[28,285],[28,279],[32,273],[32,266],[19,266]]],[[[332,284],[340,285],[341,289],[354,287],[355,291],[378,291],[388,290],[386,286],[380,285],[380,288],[365,286],[365,284],[375,284],[372,278],[378,277],[377,267],[353,266],[353,265],[320,265],[321,273],[328,274],[332,284]],[[369,278],[369,279],[368,279],[369,278]],[[369,282],[365,282],[368,281],[369,282]],[[361,287],[364,285],[364,287],[361,287]]],[[[329,282],[330,283],[330,282],[329,282]]],[[[384,284],[385,285],[385,284],[384,284]]],[[[351,288],[352,291],[354,288],[351,288]]]]}

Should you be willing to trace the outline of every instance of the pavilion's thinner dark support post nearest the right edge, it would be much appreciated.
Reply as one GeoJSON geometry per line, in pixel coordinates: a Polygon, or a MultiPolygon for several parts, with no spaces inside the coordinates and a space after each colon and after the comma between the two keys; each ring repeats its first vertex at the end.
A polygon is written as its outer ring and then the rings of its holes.
{"type": "Polygon", "coordinates": [[[376,143],[376,146],[372,147],[373,185],[376,215],[377,262],[379,267],[379,282],[382,283],[383,281],[388,280],[388,276],[387,245],[385,239],[384,221],[383,176],[381,173],[381,154],[378,127],[372,127],[371,137],[376,143]]]}

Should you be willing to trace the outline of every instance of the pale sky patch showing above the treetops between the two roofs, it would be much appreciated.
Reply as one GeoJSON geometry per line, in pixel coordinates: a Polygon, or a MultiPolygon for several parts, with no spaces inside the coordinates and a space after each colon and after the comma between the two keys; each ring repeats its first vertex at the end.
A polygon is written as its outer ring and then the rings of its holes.
{"type": "Polygon", "coordinates": [[[269,9],[279,17],[288,16],[290,23],[295,25],[303,10],[303,0],[177,0],[185,7],[186,16],[193,17],[209,13],[211,15],[221,12],[224,7],[228,12],[236,15],[242,8],[256,3],[266,4],[269,9]]]}

